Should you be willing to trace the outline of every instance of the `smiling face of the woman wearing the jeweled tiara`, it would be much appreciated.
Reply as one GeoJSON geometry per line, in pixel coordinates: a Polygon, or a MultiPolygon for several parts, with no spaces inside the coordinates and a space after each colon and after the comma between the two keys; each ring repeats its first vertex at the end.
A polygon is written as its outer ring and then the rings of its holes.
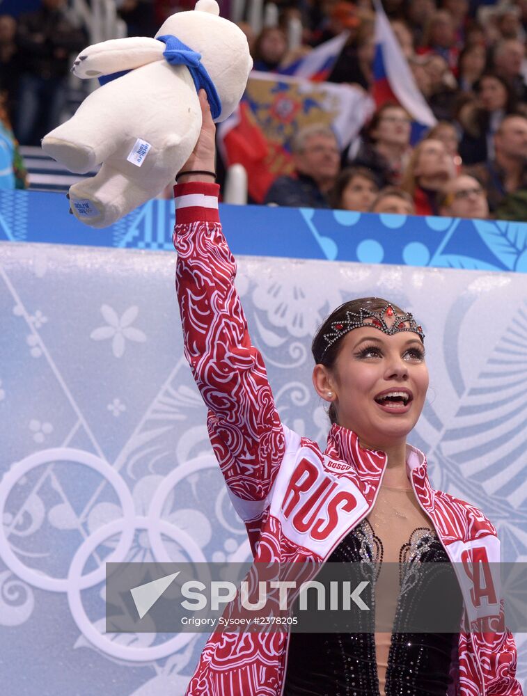
{"type": "Polygon", "coordinates": [[[333,401],[338,424],[356,432],[362,445],[386,449],[404,442],[428,388],[419,336],[412,331],[386,335],[362,326],[340,340],[333,367],[315,366],[317,392],[333,401]]]}

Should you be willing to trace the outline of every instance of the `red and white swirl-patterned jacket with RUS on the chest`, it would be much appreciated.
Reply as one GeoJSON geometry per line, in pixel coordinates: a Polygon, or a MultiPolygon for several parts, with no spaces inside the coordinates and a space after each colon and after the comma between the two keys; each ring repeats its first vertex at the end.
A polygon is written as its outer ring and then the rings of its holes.
{"type": "MultiPolygon", "coordinates": [[[[331,427],[322,452],[281,424],[235,290],[235,260],[221,232],[218,191],[216,184],[175,187],[185,355],[209,409],[212,448],[256,560],[323,561],[375,505],[386,454],[363,450],[356,435],[338,425],[331,427]]],[[[472,558],[500,560],[494,526],[472,505],[432,489],[425,456],[411,447],[407,473],[456,568],[472,558]]],[[[467,606],[470,593],[460,582],[467,606]]],[[[477,607],[467,611],[478,615],[477,607]]],[[[287,655],[284,633],[213,633],[187,695],[279,696],[287,655]]],[[[521,696],[509,631],[460,633],[458,657],[449,693],[521,696]]]]}

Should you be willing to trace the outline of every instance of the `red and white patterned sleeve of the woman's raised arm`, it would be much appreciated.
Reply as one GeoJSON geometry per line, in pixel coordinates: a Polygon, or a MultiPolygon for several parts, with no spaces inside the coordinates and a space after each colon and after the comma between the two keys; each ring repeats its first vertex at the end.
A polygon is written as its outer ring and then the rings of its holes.
{"type": "Polygon", "coordinates": [[[212,448],[231,493],[264,500],[285,438],[235,289],[236,264],[219,223],[219,187],[192,182],[178,184],[174,193],[184,353],[209,409],[212,448]]]}

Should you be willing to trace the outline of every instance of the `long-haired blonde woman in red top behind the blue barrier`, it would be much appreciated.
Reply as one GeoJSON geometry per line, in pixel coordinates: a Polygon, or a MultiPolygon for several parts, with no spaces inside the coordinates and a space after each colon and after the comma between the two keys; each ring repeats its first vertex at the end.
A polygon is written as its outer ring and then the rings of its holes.
{"type": "Polygon", "coordinates": [[[412,152],[401,188],[414,200],[418,215],[436,215],[437,192],[454,176],[453,162],[439,140],[423,140],[412,152]]]}

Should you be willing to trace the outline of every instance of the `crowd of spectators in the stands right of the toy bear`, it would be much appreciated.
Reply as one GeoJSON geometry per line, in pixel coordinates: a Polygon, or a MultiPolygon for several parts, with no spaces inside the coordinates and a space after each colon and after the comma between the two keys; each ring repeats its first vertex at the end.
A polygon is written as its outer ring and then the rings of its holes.
{"type": "MultiPolygon", "coordinates": [[[[349,31],[328,81],[372,91],[370,2],[280,4],[279,26],[253,39],[258,70],[296,57],[284,31],[294,13],[304,26],[302,51],[349,31]]],[[[294,175],[276,180],[266,202],[527,220],[527,2],[383,4],[437,125],[411,145],[411,115],[387,102],[345,152],[329,129],[308,127],[292,146],[294,175]]]]}

